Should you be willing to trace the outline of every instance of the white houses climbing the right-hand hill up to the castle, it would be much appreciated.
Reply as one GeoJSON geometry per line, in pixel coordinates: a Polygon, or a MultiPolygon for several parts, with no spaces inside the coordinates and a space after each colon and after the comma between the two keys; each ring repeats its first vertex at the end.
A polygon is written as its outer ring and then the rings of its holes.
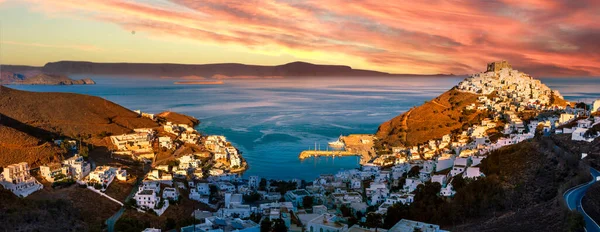
{"type": "MultiPolygon", "coordinates": [[[[552,91],[539,80],[512,70],[506,62],[489,64],[487,72],[465,79],[456,88],[479,95],[477,103],[467,106],[465,110],[486,110],[490,113],[490,118],[483,119],[480,124],[472,125],[459,134],[444,135],[440,139],[417,146],[394,147],[392,154],[377,157],[373,162],[375,165],[393,165],[391,175],[386,171],[375,172],[375,185],[372,183],[372,190],[367,191],[369,204],[381,203],[380,212],[385,212],[386,207],[399,201],[410,203],[411,192],[417,185],[427,181],[441,184],[440,195],[453,196],[455,192],[452,180],[455,176],[461,175],[469,179],[484,176],[477,166],[488,152],[531,139],[537,129],[541,128],[544,134],[571,133],[572,139],[578,141],[592,141],[600,136],[597,133],[586,133],[600,123],[600,117],[590,117],[591,112],[585,109],[551,105],[551,98],[562,98],[560,93],[552,91]],[[492,93],[495,93],[495,96],[492,99],[488,98],[492,93]],[[522,111],[553,112],[560,117],[537,117],[525,121],[519,117],[522,111]],[[561,128],[574,122],[576,125],[572,128],[561,128]],[[488,131],[496,131],[496,141],[490,139],[488,131]],[[386,185],[382,183],[390,180],[388,177],[397,180],[415,166],[419,168],[419,174],[408,176],[398,193],[390,193],[384,188],[386,185]],[[377,186],[377,189],[373,189],[373,186],[377,186]],[[369,195],[369,192],[373,194],[369,195]]],[[[592,112],[597,111],[598,107],[600,100],[592,104],[592,112]]],[[[338,175],[346,178],[351,176],[351,186],[357,183],[355,187],[358,188],[358,183],[364,178],[364,171],[349,172],[338,175]]]]}

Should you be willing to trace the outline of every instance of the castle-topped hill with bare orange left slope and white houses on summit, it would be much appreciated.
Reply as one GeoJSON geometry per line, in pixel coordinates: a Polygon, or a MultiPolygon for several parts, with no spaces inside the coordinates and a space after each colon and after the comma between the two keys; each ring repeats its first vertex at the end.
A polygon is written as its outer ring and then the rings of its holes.
{"type": "Polygon", "coordinates": [[[558,91],[539,80],[512,69],[505,61],[493,62],[487,71],[473,74],[439,97],[384,122],[377,137],[383,146],[415,146],[479,124],[491,105],[500,111],[514,105],[543,110],[566,104],[558,91]],[[480,104],[479,97],[485,97],[490,106],[480,104]]]}

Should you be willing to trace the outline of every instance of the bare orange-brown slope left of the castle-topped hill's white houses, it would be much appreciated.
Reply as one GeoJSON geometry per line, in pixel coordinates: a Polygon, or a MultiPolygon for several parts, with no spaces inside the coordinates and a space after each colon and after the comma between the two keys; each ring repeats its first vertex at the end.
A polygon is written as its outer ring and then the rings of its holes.
{"type": "Polygon", "coordinates": [[[463,110],[476,100],[475,94],[451,89],[381,124],[377,130],[379,142],[391,146],[414,146],[431,139],[440,139],[483,113],[463,110]]]}

